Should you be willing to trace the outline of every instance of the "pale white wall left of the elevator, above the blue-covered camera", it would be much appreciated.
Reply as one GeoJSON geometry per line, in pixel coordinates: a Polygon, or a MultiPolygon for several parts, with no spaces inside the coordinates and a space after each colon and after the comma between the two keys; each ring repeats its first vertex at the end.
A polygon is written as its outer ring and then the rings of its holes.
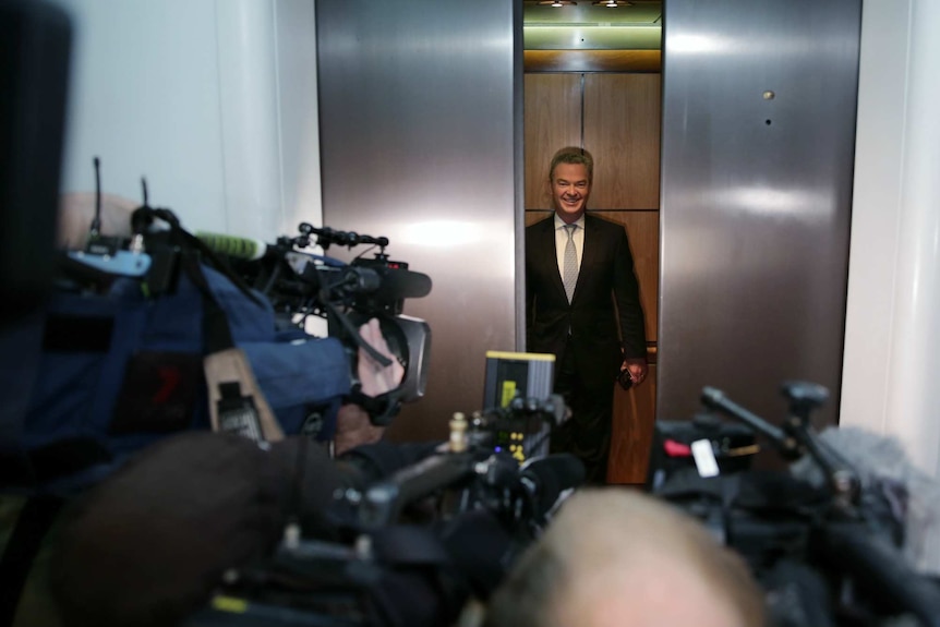
{"type": "Polygon", "coordinates": [[[75,46],[62,189],[190,230],[272,241],[321,224],[313,0],[58,0],[75,46]]]}

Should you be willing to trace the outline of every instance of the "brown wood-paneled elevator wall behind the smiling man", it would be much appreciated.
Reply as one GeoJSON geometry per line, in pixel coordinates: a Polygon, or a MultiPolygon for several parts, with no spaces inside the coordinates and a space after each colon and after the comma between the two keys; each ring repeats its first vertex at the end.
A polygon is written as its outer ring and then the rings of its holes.
{"type": "Polygon", "coordinates": [[[655,420],[660,94],[658,72],[527,70],[525,77],[526,224],[551,214],[555,150],[583,147],[594,158],[589,210],[626,228],[640,284],[650,375],[629,391],[614,386],[611,483],[643,481],[655,420]]]}

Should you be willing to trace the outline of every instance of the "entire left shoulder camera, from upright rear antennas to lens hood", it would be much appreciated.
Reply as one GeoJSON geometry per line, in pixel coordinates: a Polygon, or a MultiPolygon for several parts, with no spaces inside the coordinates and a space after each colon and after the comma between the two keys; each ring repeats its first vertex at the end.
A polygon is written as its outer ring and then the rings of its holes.
{"type": "Polygon", "coordinates": [[[423,319],[402,311],[406,299],[427,296],[432,282],[427,275],[410,270],[406,262],[385,254],[388,238],[315,228],[306,222],[300,224],[298,236],[279,237],[274,244],[218,233],[193,234],[182,228],[172,210],[149,205],[146,181],[142,181],[143,204],[131,214],[131,237],[109,236],[100,229],[97,158],[94,166],[95,214],[86,245],[67,251],[62,260],[68,276],[85,288],[109,286],[119,277],[133,278],[146,284],[150,297],[159,297],[176,290],[185,258],[181,251],[195,252],[201,263],[221,272],[251,300],[261,303],[256,294],[263,294],[279,330],[305,330],[311,315],[326,318],[328,335],[340,340],[349,357],[354,382],[350,400],[366,409],[374,424],[389,424],[402,402],[424,396],[431,329],[423,319]],[[379,251],[372,258],[360,255],[347,264],[305,250],[314,245],[324,251],[332,245],[377,245],[379,251]],[[357,376],[359,349],[383,366],[391,363],[359,334],[359,327],[371,318],[378,321],[389,350],[405,371],[397,388],[376,398],[362,394],[357,376]]]}

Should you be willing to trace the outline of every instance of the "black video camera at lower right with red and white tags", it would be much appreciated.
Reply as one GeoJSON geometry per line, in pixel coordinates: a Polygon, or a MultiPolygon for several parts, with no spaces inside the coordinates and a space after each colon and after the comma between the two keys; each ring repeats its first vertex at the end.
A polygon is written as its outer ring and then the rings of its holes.
{"type": "Polygon", "coordinates": [[[787,382],[782,391],[790,407],[778,427],[704,388],[708,413],[658,422],[648,487],[745,558],[775,627],[880,625],[897,616],[940,625],[940,588],[903,555],[904,490],[861,475],[847,451],[817,434],[810,412],[825,388],[787,382]],[[799,461],[790,472],[754,469],[758,436],[799,461]]]}

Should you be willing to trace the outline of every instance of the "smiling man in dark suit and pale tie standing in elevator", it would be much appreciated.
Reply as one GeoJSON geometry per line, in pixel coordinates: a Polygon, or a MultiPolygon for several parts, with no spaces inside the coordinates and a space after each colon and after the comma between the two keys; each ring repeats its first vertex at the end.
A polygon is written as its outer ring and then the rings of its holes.
{"type": "Polygon", "coordinates": [[[530,352],[555,354],[555,393],[571,409],[552,451],[578,456],[596,484],[607,474],[614,381],[626,370],[643,382],[647,347],[627,234],[585,213],[592,177],[580,148],[552,159],[555,213],[526,229],[526,335],[530,352]]]}

